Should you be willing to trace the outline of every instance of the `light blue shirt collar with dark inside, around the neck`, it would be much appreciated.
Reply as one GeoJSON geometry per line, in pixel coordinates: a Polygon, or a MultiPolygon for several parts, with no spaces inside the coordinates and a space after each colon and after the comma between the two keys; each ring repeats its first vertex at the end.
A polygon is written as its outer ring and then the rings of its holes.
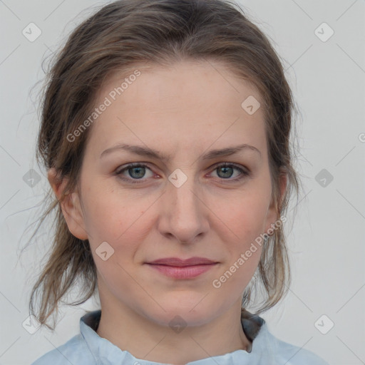
{"type": "MultiPolygon", "coordinates": [[[[107,339],[103,339],[96,333],[100,319],[101,319],[101,309],[98,309],[93,312],[88,312],[80,319],[81,335],[83,336],[83,339],[86,341],[86,345],[88,346],[89,351],[91,351],[91,354],[93,354],[96,360],[96,364],[100,364],[100,360],[102,360],[104,361],[103,364],[108,364],[108,361],[110,362],[110,364],[118,364],[118,363],[122,364],[123,361],[123,364],[128,364],[128,365],[129,364],[133,365],[137,363],[139,363],[140,365],[148,365],[148,364],[165,365],[153,361],[137,359],[135,358],[135,356],[130,354],[130,352],[121,350],[118,346],[115,346],[107,339]]],[[[225,355],[213,356],[214,359],[217,360],[215,361],[215,363],[218,362],[218,364],[221,364],[219,361],[224,360],[228,361],[227,364],[229,364],[230,361],[232,361],[233,359],[241,359],[240,356],[242,357],[247,356],[247,359],[250,358],[251,360],[255,360],[256,357],[259,356],[259,347],[262,347],[261,344],[262,341],[259,339],[259,337],[264,336],[264,334],[262,334],[263,331],[267,331],[266,322],[257,314],[252,314],[247,310],[242,309],[241,324],[242,324],[242,329],[245,332],[245,335],[247,336],[247,339],[252,341],[252,346],[251,349],[249,350],[250,352],[241,349],[225,355]]],[[[211,359],[212,358],[192,361],[189,363],[189,365],[211,364],[211,362],[209,362],[212,361],[211,359]]],[[[225,362],[222,362],[222,364],[225,364],[225,362]]]]}

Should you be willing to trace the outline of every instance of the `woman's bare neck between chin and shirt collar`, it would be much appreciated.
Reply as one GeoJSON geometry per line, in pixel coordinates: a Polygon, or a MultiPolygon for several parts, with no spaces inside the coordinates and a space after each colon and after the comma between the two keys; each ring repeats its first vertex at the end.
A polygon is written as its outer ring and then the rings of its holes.
{"type": "Polygon", "coordinates": [[[137,359],[183,365],[239,349],[251,351],[252,343],[240,322],[240,300],[211,322],[195,327],[187,324],[182,331],[160,326],[120,302],[103,304],[101,299],[98,335],[137,359]]]}

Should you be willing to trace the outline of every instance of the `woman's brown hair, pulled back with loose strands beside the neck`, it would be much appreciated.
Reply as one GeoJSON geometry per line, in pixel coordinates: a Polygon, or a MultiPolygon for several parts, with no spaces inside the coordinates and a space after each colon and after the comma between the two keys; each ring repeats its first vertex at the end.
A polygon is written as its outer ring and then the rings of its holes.
{"type": "MultiPolygon", "coordinates": [[[[91,128],[70,142],[67,138],[95,108],[98,91],[115,72],[138,65],[169,66],[178,61],[218,61],[235,76],[251,81],[263,101],[272,198],[279,217],[287,212],[289,197],[298,192],[290,144],[294,100],[279,56],[269,38],[247,19],[237,4],[225,0],[122,0],[115,1],[78,25],[53,58],[41,95],[41,125],[36,145],[38,163],[55,168],[59,181],[67,178],[57,200],[50,202],[38,228],[54,215],[54,237],[48,261],[31,290],[29,309],[42,325],[70,289],[81,283],[83,297],[97,291],[96,265],[88,240],[68,230],[61,202],[78,187],[91,128]],[[280,199],[279,177],[287,175],[287,190],[280,199]],[[39,298],[39,294],[41,297],[39,298]],[[35,304],[38,304],[37,310],[35,304]]],[[[291,281],[282,225],[262,245],[257,272],[242,297],[242,308],[255,304],[253,294],[263,289],[256,313],[279,302],[291,281]],[[254,280],[255,279],[255,280],[254,280]]],[[[81,294],[81,293],[78,293],[81,294]]]]}

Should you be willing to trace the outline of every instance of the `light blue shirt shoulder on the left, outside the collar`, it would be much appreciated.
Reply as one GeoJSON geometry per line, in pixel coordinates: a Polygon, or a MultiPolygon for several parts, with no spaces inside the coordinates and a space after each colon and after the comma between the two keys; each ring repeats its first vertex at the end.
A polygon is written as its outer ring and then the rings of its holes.
{"type": "Polygon", "coordinates": [[[81,334],[69,339],[65,344],[36,359],[31,365],[94,364],[94,359],[81,334]]]}

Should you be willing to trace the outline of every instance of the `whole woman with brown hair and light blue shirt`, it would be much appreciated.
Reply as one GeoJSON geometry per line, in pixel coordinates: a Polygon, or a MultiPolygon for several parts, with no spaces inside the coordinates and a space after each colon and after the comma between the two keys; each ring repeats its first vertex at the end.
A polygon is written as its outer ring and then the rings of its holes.
{"type": "Polygon", "coordinates": [[[78,26],[44,94],[58,216],[30,307],[48,326],[80,279],[78,304],[97,292],[101,309],[34,365],[326,364],[258,315],[289,284],[292,108],[274,49],[227,1],[116,1],[78,26]]]}

